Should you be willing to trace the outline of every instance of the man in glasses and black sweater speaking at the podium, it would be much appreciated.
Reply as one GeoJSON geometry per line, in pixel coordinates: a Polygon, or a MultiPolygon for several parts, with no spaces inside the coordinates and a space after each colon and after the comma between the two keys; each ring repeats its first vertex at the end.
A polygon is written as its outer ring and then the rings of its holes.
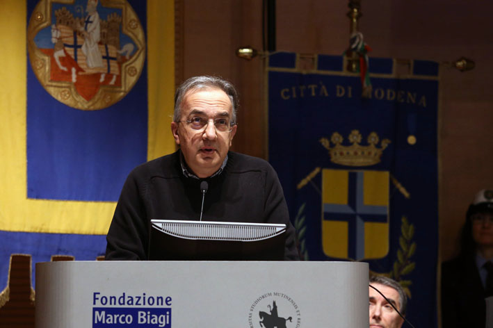
{"type": "Polygon", "coordinates": [[[171,123],[179,149],[127,177],[106,236],[107,260],[147,260],[152,219],[286,224],[284,259],[299,259],[273,167],[229,151],[238,106],[234,86],[218,77],[181,84],[171,123]]]}

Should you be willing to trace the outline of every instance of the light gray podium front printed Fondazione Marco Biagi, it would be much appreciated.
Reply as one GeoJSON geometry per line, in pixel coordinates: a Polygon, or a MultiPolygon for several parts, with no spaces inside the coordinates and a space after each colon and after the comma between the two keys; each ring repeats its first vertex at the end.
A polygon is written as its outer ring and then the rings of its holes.
{"type": "Polygon", "coordinates": [[[37,328],[369,326],[367,263],[36,263],[37,328]]]}

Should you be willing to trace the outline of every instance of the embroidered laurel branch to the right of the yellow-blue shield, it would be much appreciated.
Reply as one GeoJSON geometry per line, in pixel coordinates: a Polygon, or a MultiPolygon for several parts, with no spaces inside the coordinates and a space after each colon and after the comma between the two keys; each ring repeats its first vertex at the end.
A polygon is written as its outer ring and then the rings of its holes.
{"type": "Polygon", "coordinates": [[[401,248],[397,250],[397,260],[394,262],[394,270],[389,273],[389,277],[398,281],[403,286],[407,296],[411,297],[410,286],[412,281],[402,278],[416,268],[416,262],[411,261],[411,256],[416,252],[416,243],[412,241],[414,225],[407,222],[405,216],[403,216],[401,222],[401,236],[399,237],[401,248]]]}

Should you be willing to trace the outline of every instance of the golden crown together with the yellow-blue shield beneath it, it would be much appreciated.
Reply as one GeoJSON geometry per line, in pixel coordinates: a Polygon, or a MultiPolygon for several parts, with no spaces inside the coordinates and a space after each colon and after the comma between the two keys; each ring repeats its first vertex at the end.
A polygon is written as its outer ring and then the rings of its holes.
{"type": "MultiPolygon", "coordinates": [[[[360,145],[357,130],[344,138],[332,133],[319,141],[328,149],[330,161],[344,166],[369,166],[380,162],[390,140],[378,147],[378,134],[370,133],[368,146],[360,145]],[[333,146],[331,147],[331,145],[333,146]]],[[[315,170],[318,174],[320,170],[315,170]]],[[[382,259],[389,252],[389,172],[323,168],[321,174],[322,249],[337,259],[382,259]]],[[[307,177],[305,179],[311,179],[307,177]]],[[[306,183],[306,181],[305,181],[306,183]]],[[[305,183],[300,183],[298,189],[305,183]]]]}

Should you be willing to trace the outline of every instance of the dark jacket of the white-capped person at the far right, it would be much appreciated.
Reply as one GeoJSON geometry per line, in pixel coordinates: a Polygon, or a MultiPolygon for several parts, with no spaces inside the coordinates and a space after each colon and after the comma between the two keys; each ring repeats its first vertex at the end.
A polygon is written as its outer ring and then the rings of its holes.
{"type": "Polygon", "coordinates": [[[474,256],[442,263],[442,327],[485,328],[484,293],[474,256]]]}

